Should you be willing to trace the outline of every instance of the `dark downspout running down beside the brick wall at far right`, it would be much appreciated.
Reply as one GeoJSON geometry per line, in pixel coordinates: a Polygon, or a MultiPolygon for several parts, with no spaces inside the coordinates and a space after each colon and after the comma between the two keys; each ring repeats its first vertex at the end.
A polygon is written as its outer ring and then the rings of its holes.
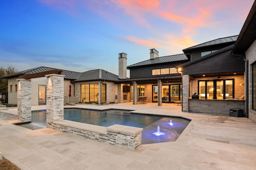
{"type": "Polygon", "coordinates": [[[238,55],[238,54],[234,54],[232,52],[232,55],[235,57],[243,57],[244,61],[245,61],[245,85],[246,85],[246,99],[245,99],[245,108],[246,108],[246,113],[245,113],[245,117],[248,118],[249,117],[249,75],[248,75],[248,68],[249,68],[249,61],[248,59],[245,58],[245,55],[238,55]]]}

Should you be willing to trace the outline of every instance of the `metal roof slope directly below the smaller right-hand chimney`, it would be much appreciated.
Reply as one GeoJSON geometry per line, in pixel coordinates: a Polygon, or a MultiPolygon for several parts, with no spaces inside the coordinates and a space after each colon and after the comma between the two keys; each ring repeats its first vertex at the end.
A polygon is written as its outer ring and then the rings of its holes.
{"type": "Polygon", "coordinates": [[[184,54],[169,55],[169,56],[157,57],[155,59],[149,59],[149,60],[146,60],[146,61],[142,61],[140,63],[132,64],[130,66],[127,66],[127,68],[136,67],[136,66],[151,65],[151,64],[159,64],[159,63],[169,63],[169,62],[183,61],[183,60],[188,60],[188,58],[184,54]]]}

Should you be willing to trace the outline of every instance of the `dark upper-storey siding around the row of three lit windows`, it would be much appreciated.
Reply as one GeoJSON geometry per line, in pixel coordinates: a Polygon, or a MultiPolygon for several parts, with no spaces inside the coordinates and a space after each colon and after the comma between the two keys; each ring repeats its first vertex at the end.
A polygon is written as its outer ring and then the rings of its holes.
{"type": "MultiPolygon", "coordinates": [[[[160,68],[172,68],[178,67],[180,64],[185,62],[175,62],[175,63],[163,63],[163,64],[154,64],[149,66],[138,66],[132,67],[130,69],[130,78],[147,78],[147,77],[159,77],[159,75],[152,76],[153,69],[160,69],[160,68]]],[[[166,74],[170,75],[170,74],[166,74]]],[[[175,75],[175,74],[172,74],[175,75]]],[[[178,74],[177,74],[178,75],[178,74]]]]}

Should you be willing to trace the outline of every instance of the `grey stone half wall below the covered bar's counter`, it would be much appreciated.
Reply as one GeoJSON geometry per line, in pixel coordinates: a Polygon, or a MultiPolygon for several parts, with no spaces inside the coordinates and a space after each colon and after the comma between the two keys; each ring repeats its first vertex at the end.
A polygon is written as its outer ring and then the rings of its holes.
{"type": "Polygon", "coordinates": [[[189,112],[229,116],[230,109],[244,109],[245,100],[189,99],[189,112]]]}

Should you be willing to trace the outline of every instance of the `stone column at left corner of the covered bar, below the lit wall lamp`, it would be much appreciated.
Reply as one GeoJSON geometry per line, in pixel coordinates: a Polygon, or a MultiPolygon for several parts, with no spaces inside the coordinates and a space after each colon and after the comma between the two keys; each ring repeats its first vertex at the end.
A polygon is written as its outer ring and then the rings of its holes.
{"type": "Polygon", "coordinates": [[[182,76],[182,111],[188,112],[189,76],[182,76]]]}

